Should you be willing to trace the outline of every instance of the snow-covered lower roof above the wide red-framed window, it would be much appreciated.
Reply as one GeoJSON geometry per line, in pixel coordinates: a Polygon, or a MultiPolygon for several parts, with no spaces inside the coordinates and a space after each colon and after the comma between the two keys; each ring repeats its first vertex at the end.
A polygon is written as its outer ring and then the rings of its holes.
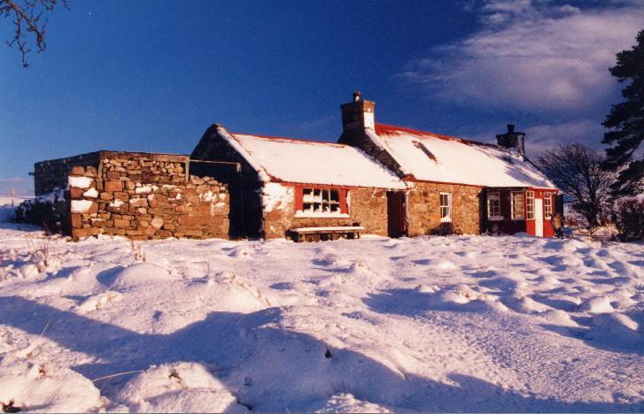
{"type": "Polygon", "coordinates": [[[351,187],[406,188],[390,170],[360,149],[330,142],[230,134],[260,177],[271,181],[351,187]],[[250,159],[248,159],[250,157],[250,159]]]}

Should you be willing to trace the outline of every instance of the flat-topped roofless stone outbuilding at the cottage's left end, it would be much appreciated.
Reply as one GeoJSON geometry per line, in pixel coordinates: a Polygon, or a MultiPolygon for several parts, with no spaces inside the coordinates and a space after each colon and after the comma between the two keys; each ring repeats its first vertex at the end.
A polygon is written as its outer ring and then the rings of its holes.
{"type": "Polygon", "coordinates": [[[35,164],[35,200],[19,219],[79,239],[229,236],[228,185],[190,174],[174,154],[97,151],[35,164]]]}

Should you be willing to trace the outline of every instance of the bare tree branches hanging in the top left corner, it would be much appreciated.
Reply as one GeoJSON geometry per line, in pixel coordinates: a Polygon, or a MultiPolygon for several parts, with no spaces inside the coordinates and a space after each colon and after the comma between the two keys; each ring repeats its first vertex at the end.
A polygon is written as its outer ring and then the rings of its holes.
{"type": "Polygon", "coordinates": [[[43,19],[43,13],[53,12],[57,4],[63,4],[69,9],[67,0],[0,0],[0,17],[11,19],[14,28],[14,35],[5,43],[9,47],[16,46],[22,57],[22,66],[28,67],[27,53],[31,51],[28,37],[34,38],[35,47],[38,52],[45,50],[45,35],[47,30],[47,19],[43,19]]]}

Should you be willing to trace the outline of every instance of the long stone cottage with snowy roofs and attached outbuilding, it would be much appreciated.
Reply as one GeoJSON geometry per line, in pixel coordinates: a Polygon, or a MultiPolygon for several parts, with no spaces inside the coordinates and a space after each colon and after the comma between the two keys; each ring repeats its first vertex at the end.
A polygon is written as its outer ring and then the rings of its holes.
{"type": "Polygon", "coordinates": [[[75,238],[554,234],[557,188],[524,156],[514,126],[493,145],[376,123],[375,103],[358,92],[341,110],[337,143],[213,125],[190,157],[43,161],[35,192],[54,208],[35,203],[23,216],[75,238]]]}

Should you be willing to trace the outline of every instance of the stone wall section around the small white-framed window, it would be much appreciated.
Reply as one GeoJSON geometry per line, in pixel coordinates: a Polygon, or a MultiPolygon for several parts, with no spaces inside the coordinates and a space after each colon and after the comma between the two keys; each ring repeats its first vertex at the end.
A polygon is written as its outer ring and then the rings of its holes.
{"type": "Polygon", "coordinates": [[[483,188],[428,182],[408,183],[408,235],[481,234],[485,224],[483,188]],[[440,193],[452,193],[452,222],[440,221],[440,193]]]}

